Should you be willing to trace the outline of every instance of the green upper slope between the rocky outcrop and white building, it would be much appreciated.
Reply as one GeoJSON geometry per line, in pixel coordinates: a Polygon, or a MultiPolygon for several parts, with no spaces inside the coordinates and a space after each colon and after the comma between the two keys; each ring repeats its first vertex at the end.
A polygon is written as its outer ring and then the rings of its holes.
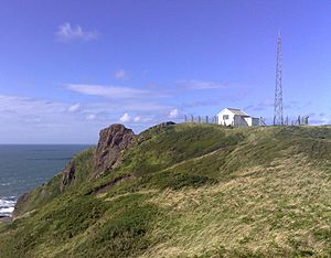
{"type": "Polygon", "coordinates": [[[177,125],[156,135],[142,132],[143,141],[126,152],[121,170],[140,176],[244,140],[243,133],[227,130],[218,126],[177,125]]]}

